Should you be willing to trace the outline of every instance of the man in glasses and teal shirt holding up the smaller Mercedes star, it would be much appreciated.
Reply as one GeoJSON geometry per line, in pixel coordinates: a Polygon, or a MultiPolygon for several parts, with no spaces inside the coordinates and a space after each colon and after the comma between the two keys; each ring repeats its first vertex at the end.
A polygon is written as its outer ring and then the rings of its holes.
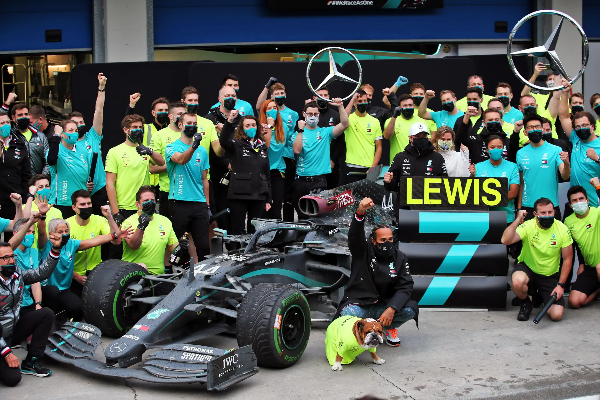
{"type": "Polygon", "coordinates": [[[319,106],[311,101],[304,106],[302,114],[305,121],[298,121],[298,131],[292,134],[294,154],[299,155],[296,166],[298,178],[294,180],[293,188],[293,204],[298,212],[298,219],[307,218],[298,208],[300,198],[311,190],[327,188],[325,175],[331,173],[329,145],[350,126],[341,98],[334,98],[331,105],[340,110],[340,123],[335,127],[319,127],[319,106]]]}

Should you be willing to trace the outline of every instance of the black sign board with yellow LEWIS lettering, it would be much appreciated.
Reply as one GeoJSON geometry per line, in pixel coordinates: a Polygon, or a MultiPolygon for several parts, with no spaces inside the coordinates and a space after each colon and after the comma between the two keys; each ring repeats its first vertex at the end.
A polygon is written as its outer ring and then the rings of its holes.
{"type": "Polygon", "coordinates": [[[401,206],[506,207],[508,178],[402,176],[401,206]]]}

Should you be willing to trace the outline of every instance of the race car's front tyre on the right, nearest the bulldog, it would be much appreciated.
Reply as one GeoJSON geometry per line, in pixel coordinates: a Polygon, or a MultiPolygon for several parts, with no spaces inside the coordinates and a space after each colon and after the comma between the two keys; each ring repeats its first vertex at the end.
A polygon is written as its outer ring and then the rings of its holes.
{"type": "Polygon", "coordinates": [[[310,307],[297,288],[258,284],[238,308],[236,337],[240,347],[252,345],[259,366],[285,368],[300,359],[310,338],[310,307]]]}

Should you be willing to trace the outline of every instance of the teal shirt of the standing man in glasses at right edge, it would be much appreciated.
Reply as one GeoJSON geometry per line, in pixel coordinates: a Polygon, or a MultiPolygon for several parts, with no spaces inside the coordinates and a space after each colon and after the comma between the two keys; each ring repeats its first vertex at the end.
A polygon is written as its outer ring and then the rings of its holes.
{"type": "Polygon", "coordinates": [[[571,152],[571,186],[583,186],[587,192],[587,198],[590,199],[590,206],[598,207],[598,194],[596,194],[596,188],[590,185],[590,179],[600,176],[600,165],[596,163],[596,160],[587,157],[587,149],[594,149],[596,154],[600,155],[600,140],[595,139],[592,142],[581,142],[581,139],[579,139],[574,130],[571,131],[569,140],[573,143],[573,151],[571,152]]]}

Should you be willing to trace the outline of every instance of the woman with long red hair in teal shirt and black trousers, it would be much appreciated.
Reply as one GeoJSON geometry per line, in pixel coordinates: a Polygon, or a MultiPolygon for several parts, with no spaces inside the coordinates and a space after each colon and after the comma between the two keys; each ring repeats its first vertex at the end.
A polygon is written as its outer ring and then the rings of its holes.
{"type": "Polygon", "coordinates": [[[283,149],[292,146],[289,128],[283,123],[283,119],[277,110],[277,103],[266,100],[259,110],[260,124],[269,127],[265,134],[265,142],[269,146],[269,168],[271,169],[271,209],[265,211],[265,218],[281,219],[281,207],[283,205],[283,190],[286,172],[286,163],[283,160],[283,149]]]}

